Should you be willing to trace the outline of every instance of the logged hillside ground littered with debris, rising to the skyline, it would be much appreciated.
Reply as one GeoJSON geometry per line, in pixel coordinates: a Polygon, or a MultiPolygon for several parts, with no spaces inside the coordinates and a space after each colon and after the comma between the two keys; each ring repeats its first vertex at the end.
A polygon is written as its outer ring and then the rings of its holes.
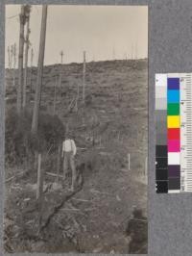
{"type": "MultiPolygon", "coordinates": [[[[146,60],[87,64],[83,106],[83,65],[45,67],[41,111],[53,113],[55,77],[61,69],[56,115],[64,124],[69,123],[73,132],[78,146],[76,165],[84,181],[72,193],[68,191],[70,177],[63,184],[61,179],[56,183],[55,177],[45,176],[44,226],[38,234],[36,168],[6,165],[6,180],[24,171],[6,182],[7,251],[128,253],[126,228],[132,207],[142,209],[147,217],[147,68],[146,60]],[[75,106],[72,100],[78,85],[80,100],[75,106]]],[[[7,110],[15,105],[11,73],[7,75],[7,110]]],[[[35,85],[33,68],[32,91],[28,88],[31,107],[35,85]]],[[[53,151],[43,168],[56,173],[56,165],[57,154],[53,151]]],[[[147,228],[144,232],[147,234],[147,228]]],[[[137,252],[146,251],[138,244],[137,252]]]]}

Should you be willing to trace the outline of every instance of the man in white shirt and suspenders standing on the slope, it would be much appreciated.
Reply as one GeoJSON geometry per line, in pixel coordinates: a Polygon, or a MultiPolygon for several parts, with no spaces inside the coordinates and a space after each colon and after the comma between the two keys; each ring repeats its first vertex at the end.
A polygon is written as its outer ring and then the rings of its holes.
{"type": "Polygon", "coordinates": [[[66,178],[66,173],[68,168],[71,168],[72,172],[72,182],[71,182],[71,191],[74,192],[75,182],[76,182],[76,166],[75,166],[75,155],[77,152],[75,141],[70,139],[69,134],[66,134],[65,141],[62,142],[62,158],[63,160],[63,180],[66,178]]]}

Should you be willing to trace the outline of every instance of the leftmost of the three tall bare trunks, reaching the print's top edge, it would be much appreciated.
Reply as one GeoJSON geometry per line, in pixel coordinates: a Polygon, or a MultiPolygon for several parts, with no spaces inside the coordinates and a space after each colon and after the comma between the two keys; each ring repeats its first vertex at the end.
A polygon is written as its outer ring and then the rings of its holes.
{"type": "Polygon", "coordinates": [[[17,87],[17,99],[16,99],[17,114],[20,114],[22,110],[24,25],[25,25],[25,10],[24,10],[24,6],[22,5],[21,13],[20,13],[20,36],[19,36],[19,52],[18,52],[18,87],[17,87]]]}

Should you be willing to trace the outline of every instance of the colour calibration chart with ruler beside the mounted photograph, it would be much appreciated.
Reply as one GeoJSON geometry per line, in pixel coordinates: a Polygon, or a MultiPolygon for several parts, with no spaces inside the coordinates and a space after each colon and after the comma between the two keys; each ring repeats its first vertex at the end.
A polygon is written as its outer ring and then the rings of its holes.
{"type": "Polygon", "coordinates": [[[192,192],[192,73],[156,74],[156,192],[192,192]]]}

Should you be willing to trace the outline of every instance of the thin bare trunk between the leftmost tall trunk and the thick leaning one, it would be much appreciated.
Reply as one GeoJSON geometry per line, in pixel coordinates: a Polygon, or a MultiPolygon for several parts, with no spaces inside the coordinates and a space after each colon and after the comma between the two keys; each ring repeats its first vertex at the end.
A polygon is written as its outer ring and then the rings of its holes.
{"type": "Polygon", "coordinates": [[[27,89],[27,67],[28,67],[28,52],[29,52],[29,46],[30,46],[30,12],[31,12],[31,6],[25,7],[25,18],[27,23],[27,34],[26,34],[26,46],[25,46],[25,72],[24,72],[24,84],[23,84],[23,108],[26,107],[26,89],[27,89]]]}

